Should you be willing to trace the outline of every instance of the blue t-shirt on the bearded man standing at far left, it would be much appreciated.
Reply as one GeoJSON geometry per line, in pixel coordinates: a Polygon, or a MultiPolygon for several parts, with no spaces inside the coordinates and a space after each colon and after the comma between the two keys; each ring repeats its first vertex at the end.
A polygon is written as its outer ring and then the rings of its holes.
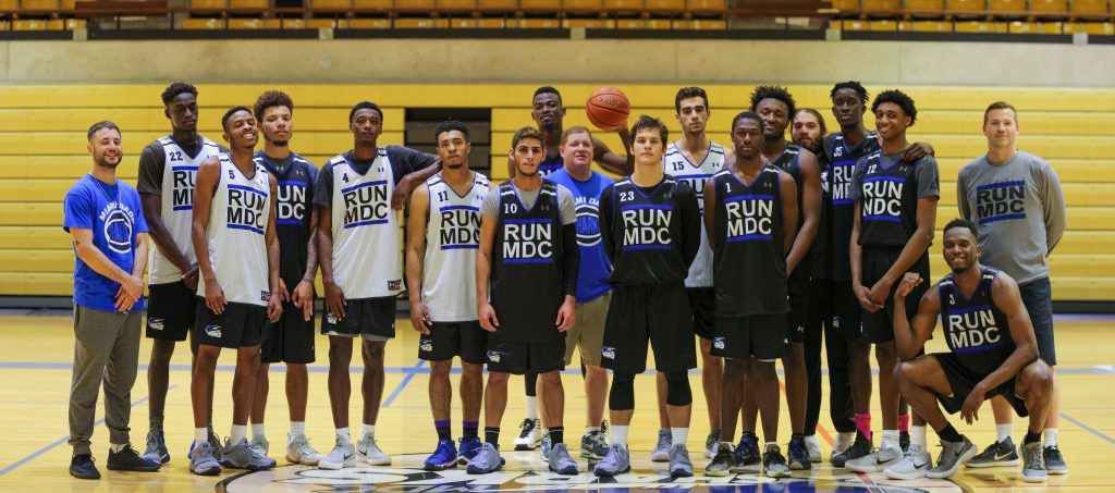
{"type": "MultiPolygon", "coordinates": [[[[93,244],[125,272],[132,272],[136,235],[147,232],[139,194],[122,181],[108,185],[85,175],[66,193],[62,230],[93,231],[93,244]]],[[[120,283],[108,279],[78,257],[74,263],[74,302],[101,311],[116,311],[116,291],[120,283]]],[[[143,297],[132,311],[143,310],[143,297]]]]}

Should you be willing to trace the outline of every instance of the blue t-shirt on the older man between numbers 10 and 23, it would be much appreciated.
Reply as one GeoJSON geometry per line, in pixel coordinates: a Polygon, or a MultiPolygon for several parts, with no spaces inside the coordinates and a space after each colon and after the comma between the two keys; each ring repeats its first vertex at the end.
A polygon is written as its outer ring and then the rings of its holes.
{"type": "Polygon", "coordinates": [[[611,286],[608,277],[612,273],[612,263],[604,253],[604,244],[600,238],[600,192],[614,181],[598,172],[592,172],[589,180],[580,181],[569,175],[565,168],[546,175],[550,180],[573,192],[573,206],[576,210],[576,244],[581,248],[581,268],[578,271],[576,302],[583,303],[600,298],[611,286]]]}

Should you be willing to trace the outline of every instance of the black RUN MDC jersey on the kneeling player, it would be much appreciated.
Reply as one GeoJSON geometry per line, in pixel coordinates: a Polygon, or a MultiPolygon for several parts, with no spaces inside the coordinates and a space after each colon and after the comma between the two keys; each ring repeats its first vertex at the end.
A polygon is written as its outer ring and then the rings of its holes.
{"type": "Polygon", "coordinates": [[[995,306],[991,296],[998,273],[985,267],[971,298],[960,292],[951,273],[937,284],[949,350],[966,368],[982,375],[995,371],[1015,351],[1007,316],[995,306]]]}

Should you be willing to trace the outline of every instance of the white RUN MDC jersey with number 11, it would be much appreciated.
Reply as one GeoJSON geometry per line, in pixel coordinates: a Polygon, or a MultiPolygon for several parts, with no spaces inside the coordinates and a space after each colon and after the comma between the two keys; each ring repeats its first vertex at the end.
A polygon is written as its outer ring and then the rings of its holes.
{"type": "Polygon", "coordinates": [[[436,322],[478,318],[476,250],[481,245],[481,204],[488,193],[488,180],[479,173],[473,175],[473,186],[464,195],[457,195],[440,173],[426,181],[429,220],[421,298],[430,320],[436,322]]]}

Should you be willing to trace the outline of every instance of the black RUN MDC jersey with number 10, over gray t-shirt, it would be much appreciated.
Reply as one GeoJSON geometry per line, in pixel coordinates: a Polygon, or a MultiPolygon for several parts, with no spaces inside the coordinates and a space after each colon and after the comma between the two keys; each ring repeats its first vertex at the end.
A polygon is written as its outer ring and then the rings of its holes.
{"type": "Polygon", "coordinates": [[[526,209],[511,181],[500,185],[500,215],[493,245],[491,298],[500,319],[492,337],[549,341],[565,300],[564,241],[558,184],[542,181],[539,199],[526,209]]]}

